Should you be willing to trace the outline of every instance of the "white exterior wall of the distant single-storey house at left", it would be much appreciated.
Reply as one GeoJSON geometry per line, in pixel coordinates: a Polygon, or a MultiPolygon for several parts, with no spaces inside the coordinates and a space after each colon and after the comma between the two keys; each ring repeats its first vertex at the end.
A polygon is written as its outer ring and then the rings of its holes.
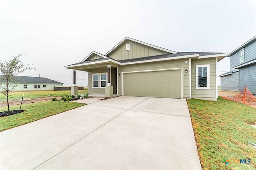
{"type": "Polygon", "coordinates": [[[43,87],[44,84],[41,83],[18,83],[18,86],[15,87],[14,91],[30,91],[30,90],[54,90],[55,87],[63,87],[63,84],[45,84],[46,87],[43,87]],[[27,88],[24,88],[24,84],[27,84],[27,88]],[[40,88],[34,88],[34,85],[40,85],[40,88]]]}

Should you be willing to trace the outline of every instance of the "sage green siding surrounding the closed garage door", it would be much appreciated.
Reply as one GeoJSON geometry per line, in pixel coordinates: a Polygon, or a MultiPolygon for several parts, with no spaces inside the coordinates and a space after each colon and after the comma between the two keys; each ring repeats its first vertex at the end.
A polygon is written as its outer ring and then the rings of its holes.
{"type": "MultiPolygon", "coordinates": [[[[140,63],[140,64],[129,64],[123,65],[118,68],[118,95],[122,95],[122,72],[133,72],[133,71],[143,71],[143,70],[160,70],[169,68],[182,68],[182,78],[183,78],[183,97],[189,98],[189,59],[180,60],[170,60],[170,61],[158,61],[152,63],[140,63]],[[186,63],[187,61],[187,63],[186,63]],[[188,69],[186,76],[184,75],[185,70],[188,69]]],[[[156,81],[153,80],[152,81],[156,81]]],[[[154,89],[152,89],[154,90],[154,89]]]]}

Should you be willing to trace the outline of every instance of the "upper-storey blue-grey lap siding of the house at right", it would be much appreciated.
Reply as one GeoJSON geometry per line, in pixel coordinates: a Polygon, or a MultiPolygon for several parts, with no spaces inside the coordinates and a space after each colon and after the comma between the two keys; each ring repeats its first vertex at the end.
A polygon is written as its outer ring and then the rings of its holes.
{"type": "Polygon", "coordinates": [[[235,66],[238,66],[240,64],[256,59],[256,40],[254,39],[254,41],[252,41],[250,44],[247,44],[244,47],[244,62],[242,63],[240,63],[240,60],[239,60],[239,53],[240,53],[240,49],[238,49],[236,53],[230,56],[230,66],[231,66],[230,70],[232,70],[232,68],[235,66]]]}

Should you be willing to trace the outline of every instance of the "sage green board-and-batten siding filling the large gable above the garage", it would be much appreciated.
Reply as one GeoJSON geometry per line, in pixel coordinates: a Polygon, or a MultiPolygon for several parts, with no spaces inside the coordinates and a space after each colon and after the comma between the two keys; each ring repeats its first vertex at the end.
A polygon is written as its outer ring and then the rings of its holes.
{"type": "Polygon", "coordinates": [[[108,54],[108,57],[118,61],[163,54],[168,53],[166,51],[148,47],[146,45],[136,43],[134,41],[126,40],[117,49],[108,54]],[[130,50],[126,50],[126,44],[131,44],[130,50]]]}

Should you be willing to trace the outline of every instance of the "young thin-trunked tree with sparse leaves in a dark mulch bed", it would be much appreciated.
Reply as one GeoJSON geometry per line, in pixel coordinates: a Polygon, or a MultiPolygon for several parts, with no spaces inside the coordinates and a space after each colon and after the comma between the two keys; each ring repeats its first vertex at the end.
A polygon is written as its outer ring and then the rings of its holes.
{"type": "Polygon", "coordinates": [[[29,63],[24,64],[22,61],[20,61],[19,57],[21,55],[22,54],[15,55],[12,60],[5,60],[3,63],[0,61],[0,72],[3,74],[0,76],[0,92],[6,96],[8,112],[10,112],[8,94],[12,92],[16,86],[18,86],[17,83],[19,80],[16,78],[16,76],[26,70],[35,69],[31,68],[29,63]]]}

